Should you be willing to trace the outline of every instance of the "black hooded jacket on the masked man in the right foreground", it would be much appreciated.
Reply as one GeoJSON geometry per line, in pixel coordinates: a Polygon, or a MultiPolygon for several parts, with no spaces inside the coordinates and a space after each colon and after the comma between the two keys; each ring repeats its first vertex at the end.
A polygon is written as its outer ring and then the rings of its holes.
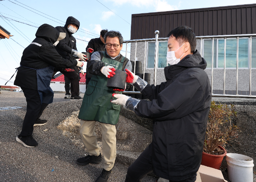
{"type": "Polygon", "coordinates": [[[196,50],[164,68],[167,81],[148,84],[141,91],[150,101],[138,102],[134,112],[153,119],[150,148],[153,171],[159,177],[182,181],[199,169],[211,106],[206,65],[196,50]]]}

